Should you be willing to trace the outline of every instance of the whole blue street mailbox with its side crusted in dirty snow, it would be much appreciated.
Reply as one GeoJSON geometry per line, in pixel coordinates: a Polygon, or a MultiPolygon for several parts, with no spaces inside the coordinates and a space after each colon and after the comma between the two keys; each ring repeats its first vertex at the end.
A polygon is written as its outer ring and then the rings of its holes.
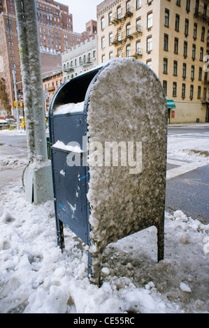
{"type": "Polygon", "coordinates": [[[64,223],[89,245],[99,283],[106,246],[154,225],[163,259],[167,105],[157,75],[115,59],[62,85],[49,117],[59,246],[64,223]]]}

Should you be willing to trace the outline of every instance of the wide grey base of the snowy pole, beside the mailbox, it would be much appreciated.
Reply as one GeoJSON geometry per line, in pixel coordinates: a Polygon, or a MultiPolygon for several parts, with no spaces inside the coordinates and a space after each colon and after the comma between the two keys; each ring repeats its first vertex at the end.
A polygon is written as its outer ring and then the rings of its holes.
{"type": "Polygon", "coordinates": [[[40,204],[53,200],[52,168],[49,161],[31,163],[27,167],[25,197],[28,202],[40,204]]]}

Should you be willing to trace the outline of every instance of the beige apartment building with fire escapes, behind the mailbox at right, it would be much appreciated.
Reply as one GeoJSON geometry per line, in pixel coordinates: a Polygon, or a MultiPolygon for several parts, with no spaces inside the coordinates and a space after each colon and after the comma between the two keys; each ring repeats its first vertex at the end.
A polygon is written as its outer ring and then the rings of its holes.
{"type": "Polygon", "coordinates": [[[171,124],[209,121],[208,3],[106,0],[97,6],[99,64],[134,57],[150,66],[164,87],[171,124]]]}

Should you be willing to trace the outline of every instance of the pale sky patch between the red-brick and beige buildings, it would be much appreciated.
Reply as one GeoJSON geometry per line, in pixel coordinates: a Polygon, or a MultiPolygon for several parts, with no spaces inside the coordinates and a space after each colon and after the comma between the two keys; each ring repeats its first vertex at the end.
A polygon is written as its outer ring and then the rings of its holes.
{"type": "Polygon", "coordinates": [[[85,23],[96,20],[96,6],[103,0],[57,0],[69,6],[69,13],[73,14],[73,32],[85,31],[85,23]]]}

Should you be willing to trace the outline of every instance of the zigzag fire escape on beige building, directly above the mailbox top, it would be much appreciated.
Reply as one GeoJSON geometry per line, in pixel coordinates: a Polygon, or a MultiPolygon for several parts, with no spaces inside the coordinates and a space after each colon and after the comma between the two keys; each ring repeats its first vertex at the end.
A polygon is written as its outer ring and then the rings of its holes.
{"type": "Polygon", "coordinates": [[[132,16],[133,16],[133,10],[131,10],[131,7],[128,7],[126,8],[123,17],[118,17],[117,14],[115,14],[115,17],[113,17],[112,23],[114,25],[120,24],[120,27],[117,29],[117,33],[112,42],[112,44],[115,45],[115,47],[117,47],[117,45],[120,43],[120,48],[117,51],[116,57],[120,57],[122,50],[124,49],[124,45],[127,43],[127,40],[132,40],[134,36],[138,36],[139,33],[142,33],[141,27],[138,27],[132,33],[131,31],[126,31],[125,33],[122,33],[122,28],[124,27],[127,18],[132,16]]]}

